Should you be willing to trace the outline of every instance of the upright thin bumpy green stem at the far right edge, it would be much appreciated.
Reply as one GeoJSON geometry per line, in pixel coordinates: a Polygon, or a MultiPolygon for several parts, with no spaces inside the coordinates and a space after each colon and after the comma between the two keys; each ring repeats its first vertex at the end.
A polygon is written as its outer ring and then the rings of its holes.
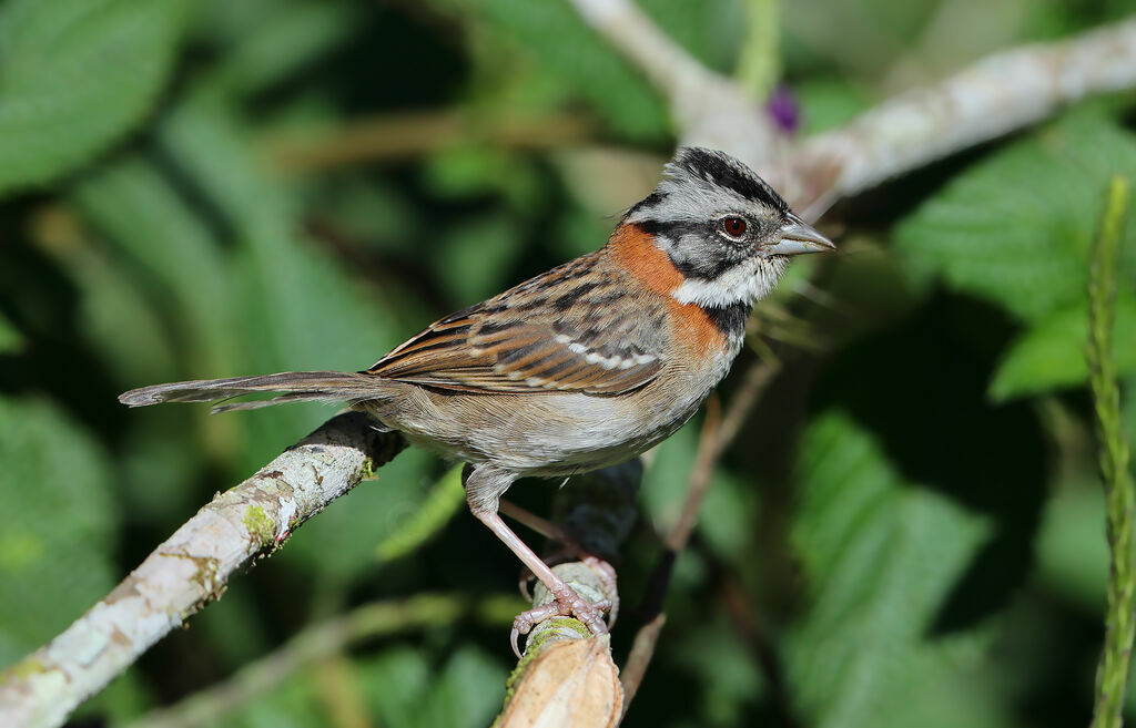
{"type": "Polygon", "coordinates": [[[1136,560],[1133,558],[1134,489],[1128,472],[1128,440],[1120,422],[1120,389],[1112,355],[1117,265],[1130,198],[1129,181],[1113,177],[1101,229],[1093,247],[1088,281],[1088,346],[1085,350],[1100,438],[1101,477],[1106,505],[1105,530],[1111,565],[1105,617],[1104,653],[1096,672],[1097,699],[1093,728],[1119,728],[1128,685],[1136,604],[1136,560]]]}

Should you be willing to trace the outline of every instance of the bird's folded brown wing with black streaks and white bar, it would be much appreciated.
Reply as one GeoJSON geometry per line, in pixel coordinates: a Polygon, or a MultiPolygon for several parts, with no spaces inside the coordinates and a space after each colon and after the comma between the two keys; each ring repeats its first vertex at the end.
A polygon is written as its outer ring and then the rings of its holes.
{"type": "Polygon", "coordinates": [[[646,322],[620,316],[626,288],[590,270],[594,261],[578,259],[451,314],[368,372],[470,392],[616,395],[642,387],[665,363],[665,304],[649,305],[646,322]]]}

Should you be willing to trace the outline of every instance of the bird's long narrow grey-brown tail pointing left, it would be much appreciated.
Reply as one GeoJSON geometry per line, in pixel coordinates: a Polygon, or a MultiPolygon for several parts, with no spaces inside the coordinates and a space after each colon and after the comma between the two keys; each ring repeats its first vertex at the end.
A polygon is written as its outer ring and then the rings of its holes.
{"type": "Polygon", "coordinates": [[[264,392],[278,392],[270,399],[253,399],[214,407],[214,412],[256,409],[293,401],[360,401],[391,393],[390,382],[374,374],[352,372],[283,372],[260,376],[203,379],[193,382],[170,382],[132,389],[118,396],[131,407],[158,405],[164,401],[219,401],[264,392]]]}

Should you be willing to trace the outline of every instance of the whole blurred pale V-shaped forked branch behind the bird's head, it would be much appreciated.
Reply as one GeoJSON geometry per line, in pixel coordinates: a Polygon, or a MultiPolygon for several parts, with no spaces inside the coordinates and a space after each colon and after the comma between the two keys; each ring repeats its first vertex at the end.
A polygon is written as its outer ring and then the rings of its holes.
{"type": "Polygon", "coordinates": [[[845,127],[790,143],[732,81],[668,39],[632,0],[571,0],[670,101],[683,143],[727,151],[809,220],[837,198],[1041,121],[1086,96],[1136,86],[1136,18],[989,56],[845,127]]]}

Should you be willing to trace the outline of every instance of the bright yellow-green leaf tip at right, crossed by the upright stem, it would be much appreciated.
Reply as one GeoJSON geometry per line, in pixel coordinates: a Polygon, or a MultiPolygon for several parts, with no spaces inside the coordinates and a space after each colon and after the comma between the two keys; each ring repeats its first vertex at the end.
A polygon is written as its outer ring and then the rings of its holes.
{"type": "MultiPolygon", "coordinates": [[[[1117,299],[1117,371],[1136,371],[1136,300],[1117,299]]],[[[991,382],[989,396],[999,401],[1035,395],[1088,381],[1085,342],[1088,340],[1088,306],[1059,311],[1030,327],[1011,345],[991,382]]]]}

